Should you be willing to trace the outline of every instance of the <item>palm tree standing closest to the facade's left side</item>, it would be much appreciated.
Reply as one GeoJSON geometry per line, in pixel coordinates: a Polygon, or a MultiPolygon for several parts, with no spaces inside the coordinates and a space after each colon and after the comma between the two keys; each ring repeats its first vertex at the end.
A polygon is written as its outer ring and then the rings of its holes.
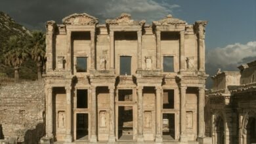
{"type": "Polygon", "coordinates": [[[37,63],[38,79],[42,79],[42,69],[45,65],[45,34],[41,31],[33,31],[28,40],[32,59],[37,63]]]}

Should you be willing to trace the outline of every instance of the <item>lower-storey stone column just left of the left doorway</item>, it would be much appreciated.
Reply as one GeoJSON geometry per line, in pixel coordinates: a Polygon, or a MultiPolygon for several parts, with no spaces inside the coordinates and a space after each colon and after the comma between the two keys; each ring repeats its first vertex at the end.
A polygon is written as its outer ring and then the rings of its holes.
{"type": "Polygon", "coordinates": [[[72,97],[71,97],[71,87],[67,86],[66,89],[66,139],[65,142],[72,142],[72,97]]]}

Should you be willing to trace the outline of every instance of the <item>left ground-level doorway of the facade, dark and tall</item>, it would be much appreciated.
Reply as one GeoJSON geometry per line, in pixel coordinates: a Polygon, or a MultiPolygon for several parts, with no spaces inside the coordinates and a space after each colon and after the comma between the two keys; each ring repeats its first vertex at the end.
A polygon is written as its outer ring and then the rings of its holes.
{"type": "Polygon", "coordinates": [[[77,113],[76,115],[76,139],[88,139],[88,114],[77,113]]]}

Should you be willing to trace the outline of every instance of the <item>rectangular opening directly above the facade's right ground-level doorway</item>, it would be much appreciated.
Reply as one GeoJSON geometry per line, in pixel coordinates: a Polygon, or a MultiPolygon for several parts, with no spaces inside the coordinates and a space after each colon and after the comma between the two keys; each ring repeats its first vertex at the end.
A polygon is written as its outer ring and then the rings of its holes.
{"type": "Polygon", "coordinates": [[[174,109],[174,90],[163,90],[163,109],[174,109]]]}

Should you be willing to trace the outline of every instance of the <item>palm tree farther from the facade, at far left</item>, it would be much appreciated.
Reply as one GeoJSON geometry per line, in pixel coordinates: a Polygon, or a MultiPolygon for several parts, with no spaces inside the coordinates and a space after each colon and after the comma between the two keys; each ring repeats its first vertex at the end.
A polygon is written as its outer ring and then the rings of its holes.
{"type": "Polygon", "coordinates": [[[18,82],[18,71],[20,65],[29,56],[28,48],[25,45],[25,37],[11,36],[4,46],[5,64],[14,67],[14,81],[18,82]]]}

